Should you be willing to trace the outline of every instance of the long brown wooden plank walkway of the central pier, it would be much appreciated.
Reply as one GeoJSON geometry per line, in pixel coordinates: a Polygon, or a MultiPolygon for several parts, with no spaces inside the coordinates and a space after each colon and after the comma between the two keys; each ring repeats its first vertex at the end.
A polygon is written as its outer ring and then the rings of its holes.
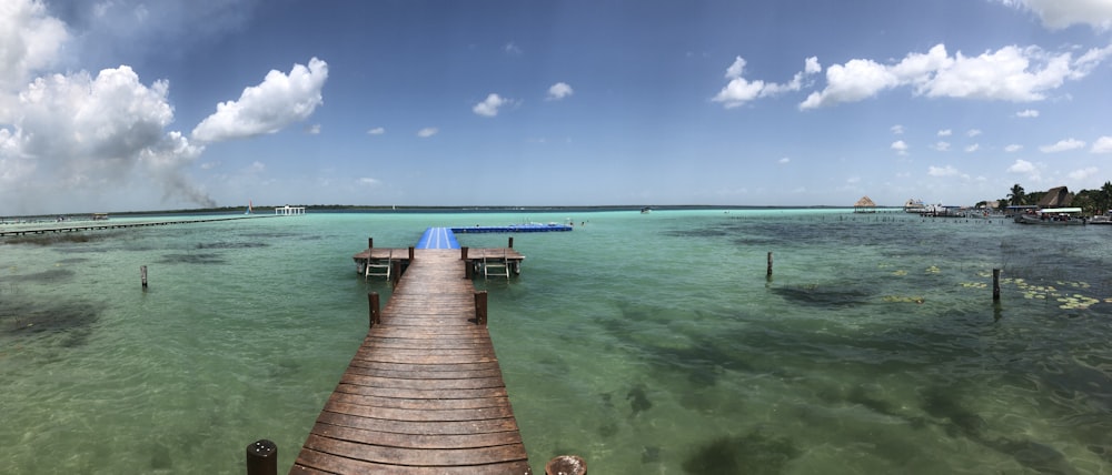
{"type": "Polygon", "coordinates": [[[464,265],[415,251],[291,474],[532,474],[464,265]]]}

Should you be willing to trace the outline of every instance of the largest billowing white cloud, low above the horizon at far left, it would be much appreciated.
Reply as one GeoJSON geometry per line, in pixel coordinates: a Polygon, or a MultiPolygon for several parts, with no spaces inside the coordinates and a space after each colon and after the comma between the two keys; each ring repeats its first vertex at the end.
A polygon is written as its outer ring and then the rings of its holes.
{"type": "Polygon", "coordinates": [[[0,189],[28,205],[48,206],[56,195],[95,205],[108,190],[153,180],[163,200],[212,205],[186,174],[203,148],[165,131],[173,121],[168,91],[127,65],[36,79],[19,93],[20,117],[0,129],[0,189]]]}

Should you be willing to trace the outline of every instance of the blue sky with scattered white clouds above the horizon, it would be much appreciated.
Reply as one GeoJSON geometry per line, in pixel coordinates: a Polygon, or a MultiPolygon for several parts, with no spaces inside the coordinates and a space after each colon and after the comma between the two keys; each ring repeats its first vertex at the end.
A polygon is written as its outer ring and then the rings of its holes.
{"type": "Polygon", "coordinates": [[[0,215],[1112,180],[1112,0],[3,0],[0,215]]]}

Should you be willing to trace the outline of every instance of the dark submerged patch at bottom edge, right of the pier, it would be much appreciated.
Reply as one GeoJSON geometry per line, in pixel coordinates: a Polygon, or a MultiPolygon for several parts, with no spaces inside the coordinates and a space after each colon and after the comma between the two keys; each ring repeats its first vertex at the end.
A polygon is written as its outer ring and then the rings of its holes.
{"type": "Polygon", "coordinates": [[[697,475],[771,475],[782,473],[798,456],[800,449],[791,439],[753,432],[712,441],[688,456],[683,468],[697,475]]]}

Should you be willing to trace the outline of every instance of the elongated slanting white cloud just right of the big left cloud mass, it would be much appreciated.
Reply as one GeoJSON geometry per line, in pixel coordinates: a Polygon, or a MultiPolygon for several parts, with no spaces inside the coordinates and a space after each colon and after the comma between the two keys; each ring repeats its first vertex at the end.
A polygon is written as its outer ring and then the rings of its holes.
{"type": "Polygon", "coordinates": [[[307,119],[324,102],[320,90],[328,79],[328,63],[312,58],[309,65],[294,64],[289,74],[271,70],[259,85],[244,89],[239,100],[217,104],[216,113],[193,129],[203,142],[275,133],[307,119]]]}

